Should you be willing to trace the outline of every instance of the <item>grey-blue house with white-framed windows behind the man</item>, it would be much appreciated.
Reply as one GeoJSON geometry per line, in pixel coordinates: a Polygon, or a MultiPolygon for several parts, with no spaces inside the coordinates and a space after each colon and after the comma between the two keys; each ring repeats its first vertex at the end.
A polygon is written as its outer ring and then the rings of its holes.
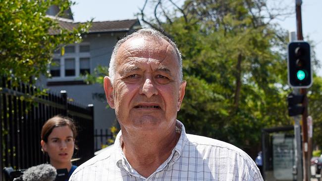
{"type": "MultiPolygon", "coordinates": [[[[55,8],[52,6],[48,14],[54,15],[57,12],[55,8]]],[[[70,14],[67,13],[65,18],[56,18],[62,28],[72,30],[79,24],[73,21],[70,14]]],[[[139,28],[141,25],[137,19],[94,21],[89,32],[82,35],[82,43],[66,45],[62,56],[59,50],[54,52],[55,66],[50,67],[52,78],[42,78],[38,84],[53,92],[66,90],[68,97],[77,103],[94,104],[95,129],[106,130],[117,125],[114,110],[107,107],[103,85],[87,85],[80,75],[85,72],[93,73],[99,65],[108,66],[117,40],[139,28]]]]}

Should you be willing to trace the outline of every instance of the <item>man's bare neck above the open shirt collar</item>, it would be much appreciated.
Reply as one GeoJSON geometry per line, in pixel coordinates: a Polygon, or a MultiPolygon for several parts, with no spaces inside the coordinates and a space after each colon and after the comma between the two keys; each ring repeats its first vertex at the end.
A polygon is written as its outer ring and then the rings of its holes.
{"type": "Polygon", "coordinates": [[[167,134],[131,136],[122,131],[121,146],[131,166],[143,177],[148,178],[171,155],[180,137],[173,128],[167,134]]]}

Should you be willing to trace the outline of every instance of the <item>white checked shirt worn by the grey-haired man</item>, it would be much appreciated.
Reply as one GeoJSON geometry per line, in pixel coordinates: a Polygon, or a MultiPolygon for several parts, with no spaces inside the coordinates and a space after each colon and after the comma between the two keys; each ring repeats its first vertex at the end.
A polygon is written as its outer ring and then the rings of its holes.
{"type": "MultiPolygon", "coordinates": [[[[254,161],[241,149],[216,139],[186,134],[169,158],[148,178],[136,172],[121,148],[121,131],[113,148],[79,166],[69,181],[263,181],[254,161]]],[[[178,125],[177,124],[177,125],[178,125]]]]}

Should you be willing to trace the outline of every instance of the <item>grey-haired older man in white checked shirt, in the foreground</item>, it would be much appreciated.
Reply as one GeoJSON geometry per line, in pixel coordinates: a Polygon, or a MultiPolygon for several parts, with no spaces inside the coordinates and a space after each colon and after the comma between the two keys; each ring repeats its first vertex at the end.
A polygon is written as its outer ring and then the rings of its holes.
{"type": "Polygon", "coordinates": [[[185,87],[170,39],[142,29],[120,40],[104,90],[121,131],[112,149],[78,167],[70,181],[262,181],[239,148],[186,134],[176,120],[185,87]]]}

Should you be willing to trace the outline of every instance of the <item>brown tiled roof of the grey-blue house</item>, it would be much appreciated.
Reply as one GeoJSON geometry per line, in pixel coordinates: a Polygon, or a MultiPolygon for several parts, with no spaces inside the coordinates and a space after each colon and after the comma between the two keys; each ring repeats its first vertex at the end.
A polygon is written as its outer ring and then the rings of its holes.
{"type": "MultiPolygon", "coordinates": [[[[68,22],[57,20],[61,28],[72,30],[81,23],[68,22]]],[[[89,29],[88,33],[104,33],[104,32],[123,32],[129,31],[131,29],[137,29],[134,27],[136,25],[140,26],[138,19],[120,20],[120,21],[97,21],[92,22],[92,27],[89,29]]],[[[56,34],[58,31],[50,31],[50,34],[56,34]]]]}

